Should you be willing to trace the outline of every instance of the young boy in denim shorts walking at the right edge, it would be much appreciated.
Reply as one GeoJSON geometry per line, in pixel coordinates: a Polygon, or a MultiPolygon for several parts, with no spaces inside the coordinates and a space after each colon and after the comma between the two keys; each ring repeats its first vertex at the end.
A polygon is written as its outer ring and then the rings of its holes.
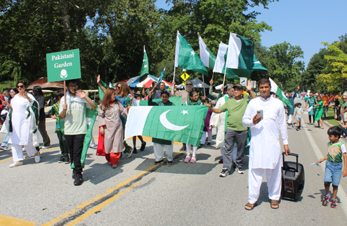
{"type": "Polygon", "coordinates": [[[318,162],[323,162],[327,160],[325,164],[325,195],[323,198],[322,205],[327,206],[330,198],[330,184],[332,183],[332,200],[330,207],[337,208],[337,187],[339,186],[341,175],[347,176],[347,157],[346,157],[346,147],[343,143],[339,141],[341,136],[341,129],[338,126],[333,126],[328,130],[328,137],[330,142],[328,143],[328,155],[319,159],[318,162]],[[342,170],[342,158],[344,159],[344,170],[342,170]]]}

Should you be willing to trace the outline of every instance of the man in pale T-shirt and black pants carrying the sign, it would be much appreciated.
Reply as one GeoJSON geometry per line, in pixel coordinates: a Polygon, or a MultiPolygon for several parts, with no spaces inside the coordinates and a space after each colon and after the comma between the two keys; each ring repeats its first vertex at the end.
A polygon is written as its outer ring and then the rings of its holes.
{"type": "MultiPolygon", "coordinates": [[[[77,80],[67,80],[66,85],[66,103],[60,104],[59,115],[60,119],[65,119],[64,134],[71,164],[74,164],[72,178],[74,185],[78,186],[83,184],[81,155],[87,134],[86,108],[96,110],[96,105],[84,92],[78,92],[77,80]]],[[[65,96],[62,100],[65,100],[65,96]]]]}

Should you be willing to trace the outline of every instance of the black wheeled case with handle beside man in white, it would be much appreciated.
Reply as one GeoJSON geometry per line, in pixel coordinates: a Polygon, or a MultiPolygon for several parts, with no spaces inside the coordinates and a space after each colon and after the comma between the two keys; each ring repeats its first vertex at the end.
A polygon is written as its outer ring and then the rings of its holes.
{"type": "Polygon", "coordinates": [[[296,157],[296,162],[285,162],[285,153],[282,153],[282,197],[287,200],[297,200],[305,185],[305,171],[298,163],[298,154],[289,153],[296,157]]]}

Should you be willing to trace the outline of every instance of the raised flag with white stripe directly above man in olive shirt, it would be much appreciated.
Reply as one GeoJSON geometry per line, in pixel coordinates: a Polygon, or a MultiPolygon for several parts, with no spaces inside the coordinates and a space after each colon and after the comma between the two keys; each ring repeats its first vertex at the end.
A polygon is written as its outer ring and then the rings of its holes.
{"type": "Polygon", "coordinates": [[[253,42],[230,33],[226,67],[239,77],[250,78],[253,70],[253,42]]]}

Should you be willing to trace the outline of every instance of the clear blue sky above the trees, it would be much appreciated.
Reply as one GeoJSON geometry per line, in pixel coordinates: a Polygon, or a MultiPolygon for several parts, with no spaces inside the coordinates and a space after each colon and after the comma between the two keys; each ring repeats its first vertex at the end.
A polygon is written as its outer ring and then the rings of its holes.
{"type": "MultiPolygon", "coordinates": [[[[169,9],[165,0],[158,0],[158,8],[169,9]]],[[[347,33],[347,0],[280,0],[270,3],[269,10],[253,8],[262,14],[257,21],[265,21],[273,31],[261,33],[262,45],[289,42],[301,46],[305,65],[323,48],[321,42],[334,42],[347,33]]]]}

